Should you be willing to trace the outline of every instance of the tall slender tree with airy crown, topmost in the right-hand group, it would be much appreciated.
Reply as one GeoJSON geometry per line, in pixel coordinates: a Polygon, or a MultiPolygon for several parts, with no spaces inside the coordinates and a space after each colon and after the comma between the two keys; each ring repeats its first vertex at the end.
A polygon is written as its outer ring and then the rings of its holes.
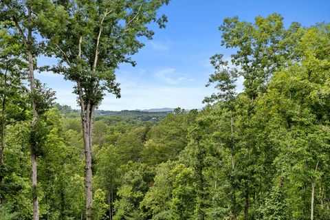
{"type": "MultiPolygon", "coordinates": [[[[217,74],[215,76],[219,78],[214,79],[228,80],[230,86],[232,86],[231,76],[240,76],[244,80],[245,88],[240,96],[235,124],[236,130],[241,133],[241,137],[239,137],[241,147],[237,151],[237,157],[239,165],[245,173],[241,183],[244,188],[244,219],[248,219],[250,205],[254,206],[256,198],[251,199],[250,195],[255,194],[255,188],[259,184],[257,181],[259,177],[254,173],[262,170],[261,166],[253,165],[254,159],[260,158],[259,154],[263,153],[263,151],[259,151],[258,146],[261,127],[253,120],[255,107],[267,91],[267,85],[274,72],[285,67],[289,58],[296,58],[293,56],[292,46],[298,42],[299,34],[297,33],[300,32],[300,25],[292,23],[289,28],[285,29],[283,17],[279,14],[271,14],[265,18],[256,17],[254,23],[239,21],[238,17],[227,18],[219,30],[222,32],[222,45],[226,48],[236,49],[236,52],[231,55],[232,65],[236,69],[224,70],[223,72],[230,74],[217,74]],[[252,204],[250,204],[251,202],[252,204]]],[[[225,65],[228,66],[228,63],[225,65]]],[[[219,89],[225,89],[227,84],[220,85],[219,89]]],[[[259,175],[262,176],[262,173],[259,175]]],[[[262,199],[262,195],[258,199],[262,199]]]]}

